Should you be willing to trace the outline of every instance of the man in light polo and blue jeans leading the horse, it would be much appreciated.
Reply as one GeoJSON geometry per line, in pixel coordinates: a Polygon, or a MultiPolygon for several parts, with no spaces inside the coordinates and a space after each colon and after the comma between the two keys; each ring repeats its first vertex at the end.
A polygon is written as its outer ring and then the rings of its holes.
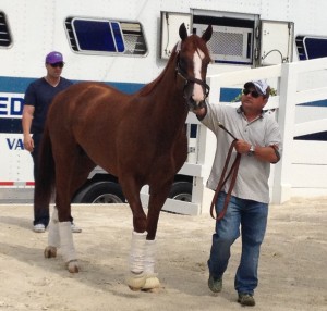
{"type": "MultiPolygon", "coordinates": [[[[264,240],[269,203],[268,177],[270,163],[280,159],[281,135],[277,122],[263,111],[268,101],[270,87],[264,80],[245,83],[241,107],[206,104],[194,111],[197,117],[217,137],[217,150],[208,179],[208,187],[216,189],[225,160],[233,138],[222,130],[223,125],[239,139],[232,157],[241,153],[238,177],[225,216],[216,222],[208,260],[211,291],[222,289],[222,276],[228,266],[230,248],[242,238],[241,262],[234,277],[238,302],[255,306],[254,289],[257,287],[257,268],[261,245],[264,240]]],[[[231,159],[232,162],[232,159],[231,159]]],[[[216,212],[223,209],[230,183],[218,195],[216,212]]]]}

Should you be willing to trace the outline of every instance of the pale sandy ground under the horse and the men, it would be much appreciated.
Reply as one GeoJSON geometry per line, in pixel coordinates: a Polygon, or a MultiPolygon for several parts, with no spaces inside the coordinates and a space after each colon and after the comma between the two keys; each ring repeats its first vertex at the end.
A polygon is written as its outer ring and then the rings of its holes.
{"type": "MultiPolygon", "coordinates": [[[[126,206],[78,206],[73,215],[82,266],[64,270],[60,251],[45,259],[48,234],[32,232],[31,206],[0,206],[0,311],[2,310],[240,310],[233,276],[240,242],[223,290],[207,287],[206,261],[214,220],[162,212],[157,233],[158,293],[124,284],[132,216],[126,206]]],[[[327,198],[270,206],[254,310],[327,310],[327,198]]]]}

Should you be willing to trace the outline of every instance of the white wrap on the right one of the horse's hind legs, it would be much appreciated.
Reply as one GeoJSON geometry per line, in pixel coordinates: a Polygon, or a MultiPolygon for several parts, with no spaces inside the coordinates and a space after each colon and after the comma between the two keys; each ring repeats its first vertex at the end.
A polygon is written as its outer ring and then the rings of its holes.
{"type": "Polygon", "coordinates": [[[76,260],[71,222],[59,222],[60,247],[65,262],[76,260]]]}

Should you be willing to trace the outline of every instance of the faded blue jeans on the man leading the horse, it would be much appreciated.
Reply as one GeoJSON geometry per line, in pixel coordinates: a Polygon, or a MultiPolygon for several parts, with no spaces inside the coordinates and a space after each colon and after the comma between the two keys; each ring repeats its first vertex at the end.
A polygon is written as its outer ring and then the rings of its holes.
{"type": "MultiPolygon", "coordinates": [[[[226,194],[220,192],[216,203],[217,214],[222,210],[226,194]]],[[[242,235],[242,254],[234,288],[238,293],[252,294],[257,286],[257,266],[261,245],[264,240],[268,217],[268,204],[231,196],[225,216],[216,222],[213,235],[209,273],[222,277],[230,258],[230,247],[242,235]]]]}

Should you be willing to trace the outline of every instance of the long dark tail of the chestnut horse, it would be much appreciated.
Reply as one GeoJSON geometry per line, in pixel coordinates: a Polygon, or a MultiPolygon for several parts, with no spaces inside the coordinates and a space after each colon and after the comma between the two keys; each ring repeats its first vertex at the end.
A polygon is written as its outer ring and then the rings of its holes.
{"type": "Polygon", "coordinates": [[[40,142],[38,160],[38,173],[35,176],[34,206],[36,210],[49,210],[51,195],[55,190],[56,175],[51,139],[47,125],[40,142]]]}

